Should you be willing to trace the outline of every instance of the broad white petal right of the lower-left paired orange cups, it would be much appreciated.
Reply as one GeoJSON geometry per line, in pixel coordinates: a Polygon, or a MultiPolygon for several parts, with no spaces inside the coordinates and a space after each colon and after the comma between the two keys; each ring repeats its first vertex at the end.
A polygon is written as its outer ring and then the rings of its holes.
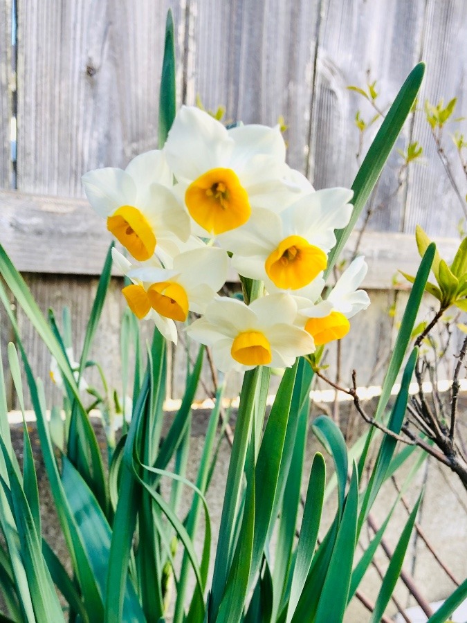
{"type": "Polygon", "coordinates": [[[187,287],[203,283],[217,292],[226,282],[228,255],[223,249],[205,246],[178,255],[174,269],[181,273],[187,287]]]}

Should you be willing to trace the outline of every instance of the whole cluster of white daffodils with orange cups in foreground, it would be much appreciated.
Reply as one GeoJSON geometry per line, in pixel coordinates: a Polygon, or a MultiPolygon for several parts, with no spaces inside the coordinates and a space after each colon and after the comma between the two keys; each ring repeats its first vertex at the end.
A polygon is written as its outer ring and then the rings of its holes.
{"type": "Polygon", "coordinates": [[[334,230],[349,222],[351,190],[315,191],[285,155],[278,127],[226,129],[182,107],[163,150],[137,156],[125,171],[83,177],[91,205],[133,258],[113,250],[131,280],[123,289],[131,310],[174,342],[174,321],[201,314],[187,331],[212,346],[223,372],[292,365],[345,336],[349,318],[369,305],[357,290],[363,258],[320,298],[334,230]],[[266,296],[248,306],[219,296],[230,261],[239,275],[262,280],[266,296]]]}

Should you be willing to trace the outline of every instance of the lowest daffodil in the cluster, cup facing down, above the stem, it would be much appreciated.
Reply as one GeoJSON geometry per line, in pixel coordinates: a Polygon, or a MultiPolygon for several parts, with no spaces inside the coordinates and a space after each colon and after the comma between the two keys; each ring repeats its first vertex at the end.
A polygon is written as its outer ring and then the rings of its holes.
{"type": "Polygon", "coordinates": [[[217,297],[187,333],[212,346],[221,372],[252,370],[257,365],[286,368],[295,358],[315,350],[310,334],[293,326],[297,304],[287,294],[271,294],[245,305],[217,297]]]}

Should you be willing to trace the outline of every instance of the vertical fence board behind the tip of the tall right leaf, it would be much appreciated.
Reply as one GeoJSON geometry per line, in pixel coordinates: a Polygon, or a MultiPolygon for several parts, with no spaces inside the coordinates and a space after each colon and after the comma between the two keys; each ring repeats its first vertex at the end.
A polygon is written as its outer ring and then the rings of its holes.
{"type": "MultiPolygon", "coordinates": [[[[317,75],[313,97],[310,179],[316,188],[349,186],[358,170],[358,129],[356,111],[368,121],[376,112],[362,96],[347,89],[349,85],[365,88],[377,80],[381,92],[378,105],[394,100],[403,80],[419,60],[423,0],[406,3],[329,0],[323,13],[318,48],[317,75]],[[380,101],[381,100],[381,101],[380,101]]],[[[363,159],[376,123],[367,132],[363,159]]],[[[403,147],[408,127],[398,139],[403,147]]],[[[383,204],[372,217],[371,227],[381,231],[399,231],[402,200],[389,200],[397,187],[400,157],[394,151],[383,171],[375,206],[383,204]]]]}

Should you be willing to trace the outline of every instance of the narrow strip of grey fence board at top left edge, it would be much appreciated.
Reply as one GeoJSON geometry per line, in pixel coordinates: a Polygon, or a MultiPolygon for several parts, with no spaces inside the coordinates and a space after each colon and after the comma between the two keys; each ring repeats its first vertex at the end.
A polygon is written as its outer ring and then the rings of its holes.
{"type": "Polygon", "coordinates": [[[12,117],[11,0],[0,2],[0,188],[11,185],[12,117]]]}

